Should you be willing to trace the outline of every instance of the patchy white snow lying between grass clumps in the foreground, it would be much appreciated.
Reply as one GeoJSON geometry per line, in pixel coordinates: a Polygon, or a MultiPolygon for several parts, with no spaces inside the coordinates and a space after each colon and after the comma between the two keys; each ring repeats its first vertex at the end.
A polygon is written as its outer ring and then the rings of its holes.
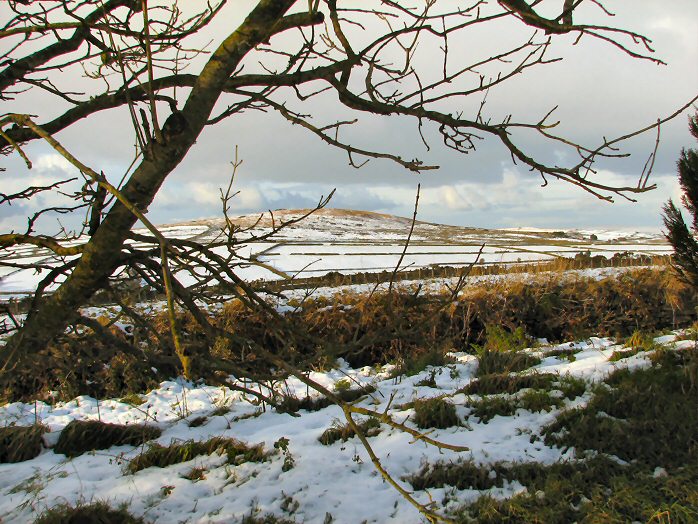
{"type": "MultiPolygon", "coordinates": [[[[677,349],[692,346],[692,341],[674,342],[674,336],[657,339],[677,349]]],[[[527,350],[542,358],[541,364],[530,372],[549,372],[561,377],[572,375],[587,381],[599,381],[618,367],[646,366],[649,360],[642,353],[610,362],[609,356],[620,346],[610,339],[592,338],[586,341],[546,346],[527,350]],[[579,352],[570,362],[564,357],[546,356],[554,349],[575,348],[579,352]]],[[[472,458],[481,464],[496,461],[537,461],[552,463],[571,458],[573,450],[563,452],[547,447],[540,439],[530,436],[551,422],[559,410],[532,413],[522,409],[513,416],[496,416],[485,423],[468,416],[468,398],[457,390],[473,380],[477,359],[472,355],[454,353],[455,363],[427,370],[413,377],[390,378],[391,366],[380,369],[351,369],[342,361],[329,372],[313,372],[311,378],[333,388],[349,379],[355,385],[373,385],[376,391],[358,405],[377,411],[388,410],[397,421],[414,427],[414,410],[405,404],[417,399],[444,396],[455,404],[460,427],[434,430],[431,438],[449,444],[467,446],[467,452],[438,450],[403,432],[383,424],[381,432],[369,439],[383,466],[403,487],[412,490],[404,477],[417,472],[425,463],[472,458]],[[436,388],[419,385],[433,376],[436,388]]],[[[247,386],[249,387],[249,383],[247,386]]],[[[304,397],[306,387],[297,379],[278,386],[283,391],[304,397]]],[[[565,405],[583,404],[589,400],[587,391],[565,405]]],[[[145,402],[137,407],[116,399],[99,400],[78,397],[70,402],[48,405],[14,403],[0,407],[0,425],[30,425],[41,422],[50,428],[45,435],[46,446],[38,457],[18,464],[0,465],[0,514],[3,523],[32,522],[46,508],[62,503],[108,501],[117,506],[125,503],[131,513],[147,521],[171,522],[238,522],[245,515],[273,513],[296,522],[357,523],[394,522],[417,523],[422,518],[390,485],[384,482],[371,464],[357,438],[324,446],[318,437],[335,422],[344,422],[336,406],[315,412],[301,411],[299,417],[262,409],[239,392],[227,388],[183,381],[160,384],[143,396],[145,402]],[[229,407],[225,415],[212,416],[222,406],[229,407]],[[189,422],[201,416],[207,421],[199,427],[189,422]],[[249,444],[263,443],[265,450],[274,452],[274,443],[288,439],[288,450],[294,467],[282,470],[284,455],[276,453],[269,461],[224,464],[225,457],[199,456],[188,462],[167,468],[151,467],[135,474],[124,472],[129,460],[141,448],[114,447],[69,459],[50,448],[60,431],[73,419],[135,424],[145,422],[163,430],[157,440],[169,444],[181,440],[206,440],[214,436],[234,437],[249,444]],[[194,467],[204,469],[203,478],[188,480],[184,476],[194,467]],[[331,516],[331,520],[328,520],[331,516]]],[[[423,504],[430,501],[441,510],[474,500],[483,493],[494,497],[511,496],[525,489],[517,483],[503,488],[475,491],[440,488],[414,492],[423,504]],[[447,497],[448,495],[448,497],[447,497]]]]}

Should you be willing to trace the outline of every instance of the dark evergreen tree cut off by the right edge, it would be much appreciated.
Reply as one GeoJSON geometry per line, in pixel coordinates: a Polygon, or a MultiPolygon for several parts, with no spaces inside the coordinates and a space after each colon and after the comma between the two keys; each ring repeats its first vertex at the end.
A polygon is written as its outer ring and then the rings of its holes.
{"type": "MultiPolygon", "coordinates": [[[[698,140],[698,112],[689,118],[688,128],[698,140]]],[[[666,238],[674,248],[673,265],[679,277],[698,288],[698,150],[683,149],[677,162],[681,203],[693,217],[690,227],[673,201],[664,205],[666,238]]]]}

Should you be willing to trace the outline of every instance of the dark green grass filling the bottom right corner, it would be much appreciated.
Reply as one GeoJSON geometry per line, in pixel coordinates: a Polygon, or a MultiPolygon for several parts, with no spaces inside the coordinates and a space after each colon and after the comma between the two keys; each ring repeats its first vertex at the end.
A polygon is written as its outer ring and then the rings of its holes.
{"type": "Polygon", "coordinates": [[[698,465],[655,476],[638,466],[620,466],[602,455],[582,462],[443,462],[406,480],[415,490],[454,487],[487,490],[518,481],[526,492],[506,500],[479,497],[454,512],[457,522],[477,523],[695,523],[698,465]]]}

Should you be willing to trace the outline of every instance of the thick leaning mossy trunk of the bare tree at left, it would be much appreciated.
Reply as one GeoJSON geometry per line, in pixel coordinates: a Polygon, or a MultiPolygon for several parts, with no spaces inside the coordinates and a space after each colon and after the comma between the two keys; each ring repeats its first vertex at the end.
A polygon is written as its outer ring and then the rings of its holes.
{"type": "MultiPolygon", "coordinates": [[[[260,0],[240,27],[211,55],[182,111],[170,115],[163,125],[162,142],[153,140],[146,158],[124,186],[122,193],[130,203],[146,212],[167,175],[184,159],[205,127],[226,81],[240,61],[271,36],[275,24],[294,3],[295,0],[260,0]]],[[[78,308],[103,287],[119,266],[121,249],[135,222],[136,217],[117,201],[85,245],[70,276],[55,293],[39,302],[22,329],[0,348],[2,370],[9,372],[65,331],[78,308]]]]}

